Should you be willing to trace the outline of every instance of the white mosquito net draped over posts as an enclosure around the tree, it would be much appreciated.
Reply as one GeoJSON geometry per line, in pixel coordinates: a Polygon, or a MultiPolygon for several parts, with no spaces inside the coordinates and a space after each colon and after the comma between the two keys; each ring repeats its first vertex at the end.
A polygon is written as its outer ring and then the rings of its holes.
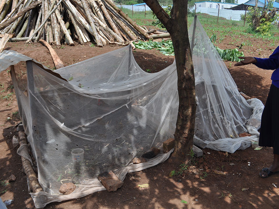
{"type": "MultiPolygon", "coordinates": [[[[190,42],[194,38],[196,81],[194,144],[231,153],[245,149],[258,140],[263,105],[257,99],[245,101],[239,94],[198,20],[189,34],[190,42]],[[239,138],[243,132],[252,136],[239,138]]],[[[1,70],[19,61],[26,61],[27,74],[12,71],[12,80],[44,190],[31,193],[37,208],[105,190],[97,179],[101,172],[112,170],[123,181],[127,172],[169,157],[171,151],[146,163],[131,163],[174,135],[175,62],[158,73],[146,73],[127,46],[51,72],[29,57],[4,51],[1,70]],[[80,163],[72,161],[74,148],[83,150],[80,163]],[[67,182],[76,189],[62,195],[59,188],[67,182]]],[[[20,148],[18,153],[25,155],[20,148]]]]}

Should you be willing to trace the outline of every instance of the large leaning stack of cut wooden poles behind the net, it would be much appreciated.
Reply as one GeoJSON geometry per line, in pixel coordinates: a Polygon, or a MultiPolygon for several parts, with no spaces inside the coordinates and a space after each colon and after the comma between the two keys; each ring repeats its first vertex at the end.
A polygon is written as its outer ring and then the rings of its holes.
{"type": "Polygon", "coordinates": [[[0,12],[0,37],[13,34],[10,41],[128,45],[155,33],[138,26],[111,0],[0,0],[0,12]]]}

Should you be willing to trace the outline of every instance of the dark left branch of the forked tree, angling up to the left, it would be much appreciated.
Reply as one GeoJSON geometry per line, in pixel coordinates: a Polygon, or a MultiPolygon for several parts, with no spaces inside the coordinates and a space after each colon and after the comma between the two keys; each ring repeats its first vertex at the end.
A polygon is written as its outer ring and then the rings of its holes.
{"type": "Polygon", "coordinates": [[[154,12],[156,17],[162,22],[162,24],[166,27],[167,31],[171,30],[170,20],[171,18],[165,12],[165,10],[160,6],[157,0],[143,0],[147,6],[154,12]]]}

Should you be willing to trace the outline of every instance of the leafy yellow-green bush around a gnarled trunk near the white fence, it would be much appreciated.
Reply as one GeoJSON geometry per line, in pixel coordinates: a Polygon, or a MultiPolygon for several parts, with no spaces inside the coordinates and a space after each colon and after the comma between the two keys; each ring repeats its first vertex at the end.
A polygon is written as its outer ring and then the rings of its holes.
{"type": "MultiPolygon", "coordinates": [[[[278,20],[278,13],[276,14],[276,8],[272,8],[274,0],[270,0],[267,4],[264,4],[263,8],[248,7],[246,14],[246,21],[249,23],[249,27],[256,33],[261,35],[270,36],[270,29],[272,23],[278,20]]],[[[244,15],[241,15],[242,21],[244,21],[244,15]]]]}

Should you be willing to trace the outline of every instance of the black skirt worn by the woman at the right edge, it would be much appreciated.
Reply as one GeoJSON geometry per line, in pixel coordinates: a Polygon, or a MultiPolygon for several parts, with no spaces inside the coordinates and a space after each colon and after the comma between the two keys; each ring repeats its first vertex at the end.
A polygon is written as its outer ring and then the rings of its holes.
{"type": "Polygon", "coordinates": [[[262,112],[259,145],[273,147],[273,154],[279,154],[279,89],[273,84],[262,112]]]}

